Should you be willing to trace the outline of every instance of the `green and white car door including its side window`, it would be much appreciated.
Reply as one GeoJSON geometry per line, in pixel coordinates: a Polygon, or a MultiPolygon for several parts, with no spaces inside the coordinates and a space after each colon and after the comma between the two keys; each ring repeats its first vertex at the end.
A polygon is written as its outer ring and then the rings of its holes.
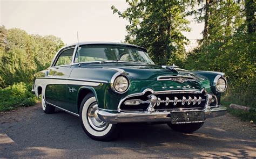
{"type": "Polygon", "coordinates": [[[71,73],[71,61],[73,48],[67,48],[60,51],[49,68],[49,84],[45,88],[45,99],[50,104],[69,110],[67,104],[67,79],[71,73]]]}

